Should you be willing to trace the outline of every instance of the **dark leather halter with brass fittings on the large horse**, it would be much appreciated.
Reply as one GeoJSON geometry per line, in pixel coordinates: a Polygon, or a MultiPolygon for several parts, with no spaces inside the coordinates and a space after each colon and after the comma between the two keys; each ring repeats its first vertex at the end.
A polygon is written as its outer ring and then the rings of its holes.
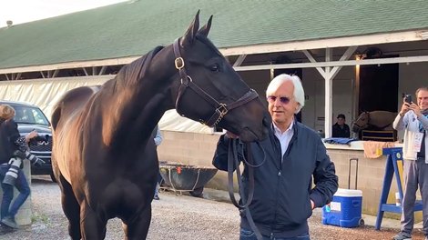
{"type": "Polygon", "coordinates": [[[179,103],[181,96],[184,95],[184,92],[186,89],[188,89],[188,86],[199,96],[201,96],[203,99],[205,99],[207,102],[209,102],[210,105],[214,106],[214,114],[212,114],[208,120],[200,120],[200,122],[203,125],[209,125],[209,126],[215,126],[218,125],[221,119],[229,113],[230,110],[238,107],[239,105],[245,105],[249,103],[251,100],[257,98],[259,95],[254,91],[254,89],[250,89],[245,95],[242,95],[237,101],[226,104],[226,103],[219,103],[214,97],[209,95],[207,92],[205,92],[202,88],[199,87],[199,85],[196,85],[192,78],[187,74],[186,68],[184,65],[184,59],[181,57],[179,52],[179,39],[176,39],[174,42],[174,55],[176,56],[176,59],[174,60],[174,64],[176,65],[176,68],[178,69],[179,75],[180,75],[180,81],[181,85],[178,88],[178,96],[176,100],[176,110],[179,115],[183,115],[184,113],[179,108],[179,103]]]}

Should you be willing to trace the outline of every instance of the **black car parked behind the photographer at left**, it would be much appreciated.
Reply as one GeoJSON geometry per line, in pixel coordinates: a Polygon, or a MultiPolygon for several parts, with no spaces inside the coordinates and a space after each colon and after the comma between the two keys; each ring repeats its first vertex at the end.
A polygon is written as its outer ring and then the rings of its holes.
{"type": "Polygon", "coordinates": [[[36,105],[21,102],[0,101],[0,105],[10,105],[15,109],[14,120],[21,135],[27,135],[36,130],[41,141],[30,143],[30,152],[45,161],[44,165],[31,165],[31,175],[50,175],[56,182],[52,172],[52,131],[46,115],[36,105]]]}

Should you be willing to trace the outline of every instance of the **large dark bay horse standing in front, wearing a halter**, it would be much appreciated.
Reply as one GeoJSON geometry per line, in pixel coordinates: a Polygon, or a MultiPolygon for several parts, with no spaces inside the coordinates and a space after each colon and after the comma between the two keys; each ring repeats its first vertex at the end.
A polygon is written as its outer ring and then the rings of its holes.
{"type": "Polygon", "coordinates": [[[53,168],[72,239],[103,239],[108,219],[145,239],[158,175],[152,131],[168,109],[245,142],[266,137],[266,107],[199,29],[125,65],[114,79],[66,93],[52,115],[53,168]]]}

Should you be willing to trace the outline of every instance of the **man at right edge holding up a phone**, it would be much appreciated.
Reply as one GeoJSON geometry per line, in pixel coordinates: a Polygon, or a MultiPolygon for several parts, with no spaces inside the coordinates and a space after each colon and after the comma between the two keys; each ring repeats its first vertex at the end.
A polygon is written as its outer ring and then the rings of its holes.
{"type": "Polygon", "coordinates": [[[394,240],[412,239],[414,224],[413,206],[418,186],[423,201],[423,234],[428,240],[428,86],[416,90],[417,103],[412,95],[404,95],[400,113],[393,128],[404,130],[403,142],[403,213],[401,231],[394,240]]]}

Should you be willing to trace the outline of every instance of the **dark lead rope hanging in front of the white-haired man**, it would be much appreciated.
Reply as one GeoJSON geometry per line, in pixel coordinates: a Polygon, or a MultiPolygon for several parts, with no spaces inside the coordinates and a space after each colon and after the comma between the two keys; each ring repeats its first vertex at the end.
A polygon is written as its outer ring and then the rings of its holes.
{"type": "MultiPolygon", "coordinates": [[[[251,147],[250,143],[246,144],[247,147],[247,160],[244,160],[245,167],[248,167],[248,173],[249,173],[249,194],[247,198],[245,198],[245,193],[243,187],[241,187],[242,183],[242,176],[240,175],[240,169],[239,169],[239,159],[238,159],[238,146],[239,141],[238,139],[229,139],[229,152],[228,152],[228,190],[229,190],[229,197],[232,201],[233,205],[238,207],[239,212],[244,213],[244,215],[247,217],[247,220],[249,221],[250,227],[254,234],[256,235],[258,240],[262,240],[262,236],[260,234],[259,228],[257,228],[256,224],[254,223],[254,220],[252,219],[251,213],[250,213],[250,204],[252,202],[252,198],[254,195],[254,166],[259,167],[264,163],[266,160],[266,154],[261,162],[260,165],[253,165],[253,159],[251,154],[251,147]],[[239,203],[235,199],[234,191],[233,191],[233,166],[236,166],[236,175],[237,175],[237,181],[238,181],[238,189],[239,189],[239,195],[240,195],[240,201],[242,202],[242,205],[239,205],[239,203]]],[[[261,148],[263,149],[263,148],[261,148]]],[[[264,153],[264,150],[263,150],[264,153]]]]}

